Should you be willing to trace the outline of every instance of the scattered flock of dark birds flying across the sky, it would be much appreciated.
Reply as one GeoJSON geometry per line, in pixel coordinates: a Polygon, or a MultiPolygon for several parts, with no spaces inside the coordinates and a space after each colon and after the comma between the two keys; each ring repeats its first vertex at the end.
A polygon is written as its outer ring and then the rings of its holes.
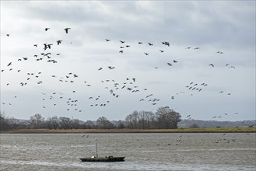
{"type": "MultiPolygon", "coordinates": [[[[50,30],[50,28],[45,28],[44,29],[45,32],[48,32],[50,30]]],[[[69,33],[68,31],[71,30],[71,28],[65,28],[65,33],[69,33]]],[[[10,37],[10,34],[6,35],[7,37],[10,37]]],[[[110,39],[105,39],[106,42],[110,42],[110,39]]],[[[39,54],[33,54],[32,60],[33,61],[46,61],[48,63],[52,63],[52,64],[57,64],[58,63],[58,56],[61,56],[61,53],[57,53],[57,54],[53,54],[51,52],[52,48],[54,48],[54,46],[61,46],[62,44],[62,40],[55,40],[55,44],[54,43],[50,43],[50,44],[43,44],[42,45],[42,49],[44,50],[40,50],[39,54]]],[[[126,42],[124,40],[119,40],[120,42],[120,47],[119,47],[119,54],[124,54],[127,48],[131,48],[131,45],[126,44],[126,42]]],[[[141,44],[145,44],[142,41],[138,42],[139,45],[141,44]]],[[[153,47],[154,44],[151,42],[147,42],[146,45],[148,45],[149,47],[153,47]]],[[[163,46],[166,47],[170,47],[170,42],[168,41],[163,41],[162,42],[163,46]]],[[[33,44],[31,45],[35,48],[39,47],[38,44],[33,44]]],[[[187,50],[195,50],[198,51],[200,50],[200,47],[186,47],[185,49],[187,50]]],[[[165,50],[160,49],[159,50],[160,53],[164,53],[165,50]]],[[[146,56],[150,55],[149,52],[144,51],[143,52],[146,56]]],[[[223,54],[223,51],[217,51],[217,54],[223,54]]],[[[20,68],[12,68],[13,64],[16,64],[16,62],[25,62],[25,61],[30,61],[31,58],[18,58],[17,61],[9,61],[9,63],[6,65],[5,68],[3,68],[1,70],[1,75],[4,75],[5,72],[14,72],[14,70],[16,70],[17,73],[22,73],[23,70],[20,68]]],[[[177,59],[174,59],[172,61],[168,61],[167,62],[167,66],[169,67],[173,67],[174,65],[178,64],[177,59]]],[[[215,67],[215,65],[213,64],[209,64],[209,67],[215,67]]],[[[226,67],[228,68],[235,68],[234,66],[230,66],[229,64],[226,64],[226,67]]],[[[105,66],[105,67],[100,67],[97,68],[97,70],[99,72],[101,72],[101,70],[103,69],[109,69],[109,70],[114,70],[116,67],[115,66],[105,66]]],[[[155,69],[157,69],[158,67],[155,67],[155,69]]],[[[23,80],[23,82],[19,82],[20,86],[28,86],[31,82],[36,83],[37,85],[40,84],[44,84],[44,82],[42,80],[40,80],[40,77],[42,75],[42,73],[44,72],[27,72],[27,73],[23,73],[26,75],[26,79],[23,80]]],[[[79,74],[74,73],[74,72],[68,72],[66,75],[51,75],[51,78],[53,79],[52,82],[62,82],[63,84],[65,83],[74,83],[74,82],[79,82],[79,80],[77,80],[79,78],[79,74]]],[[[123,94],[124,91],[126,92],[131,92],[131,93],[137,93],[137,92],[147,92],[149,91],[148,88],[141,88],[138,85],[136,85],[136,78],[124,78],[121,82],[117,82],[114,79],[106,79],[106,80],[101,80],[100,82],[104,85],[104,89],[107,90],[107,92],[110,94],[110,96],[112,96],[113,98],[118,98],[119,96],[121,96],[120,94],[123,94]]],[[[93,85],[87,81],[83,81],[83,82],[79,82],[79,84],[83,84],[84,86],[88,87],[92,87],[93,85]]],[[[6,82],[6,86],[12,86],[12,82],[6,82]]],[[[187,86],[184,86],[184,92],[178,92],[176,93],[181,94],[181,93],[185,93],[185,91],[189,92],[191,91],[191,96],[193,96],[192,92],[201,92],[205,86],[208,86],[207,83],[202,82],[191,82],[189,83],[187,86]]],[[[71,86],[70,86],[71,87],[71,86]]],[[[71,90],[70,93],[76,93],[75,90],[71,90]]],[[[224,93],[223,91],[220,91],[219,93],[224,93]]],[[[42,108],[46,109],[49,108],[49,106],[58,106],[59,100],[61,100],[61,103],[66,103],[66,110],[69,111],[77,111],[77,112],[82,112],[83,111],[83,106],[79,106],[79,100],[73,98],[72,96],[65,96],[66,92],[41,92],[41,99],[42,99],[42,103],[43,105],[41,106],[42,108]]],[[[231,95],[230,92],[227,93],[228,96],[231,95]]],[[[18,98],[17,96],[14,96],[14,99],[18,98]]],[[[175,96],[172,95],[170,96],[170,99],[175,99],[175,96]]],[[[105,100],[104,98],[101,99],[100,95],[97,96],[89,96],[88,97],[89,100],[89,106],[90,107],[96,107],[96,106],[107,106],[110,103],[110,99],[105,100]]],[[[142,101],[146,101],[148,103],[151,103],[152,105],[156,105],[157,103],[160,102],[160,98],[157,98],[155,95],[153,95],[153,93],[147,93],[146,96],[142,97],[141,99],[138,100],[139,102],[142,101]]],[[[1,105],[12,105],[12,103],[9,102],[2,102],[1,105]]],[[[236,113],[237,114],[237,113],[236,113]]],[[[225,113],[225,115],[228,115],[227,113],[225,113]]],[[[214,116],[212,118],[220,118],[222,116],[214,116]]],[[[186,117],[186,119],[191,119],[191,114],[188,115],[186,117]]]]}

